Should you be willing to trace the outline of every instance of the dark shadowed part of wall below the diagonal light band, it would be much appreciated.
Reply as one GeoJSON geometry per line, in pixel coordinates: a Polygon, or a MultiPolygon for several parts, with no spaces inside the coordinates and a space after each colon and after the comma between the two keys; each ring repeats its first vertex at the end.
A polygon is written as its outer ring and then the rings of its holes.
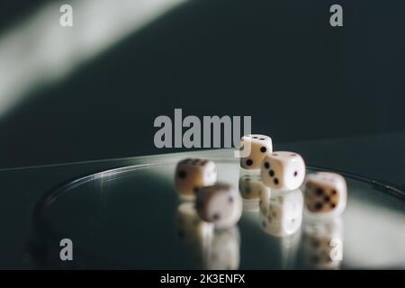
{"type": "Polygon", "coordinates": [[[347,4],[331,28],[331,4],[184,4],[1,119],[0,166],[170,152],[153,121],[175,108],[251,115],[275,141],[404,130],[400,7],[347,4]]]}

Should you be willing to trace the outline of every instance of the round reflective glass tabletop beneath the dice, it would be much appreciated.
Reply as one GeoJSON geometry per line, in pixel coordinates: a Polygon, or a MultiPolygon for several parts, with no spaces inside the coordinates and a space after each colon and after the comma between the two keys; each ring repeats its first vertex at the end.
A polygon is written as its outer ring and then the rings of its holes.
{"type": "MultiPolygon", "coordinates": [[[[345,175],[348,202],[341,217],[308,220],[296,190],[272,193],[280,220],[269,221],[258,201],[244,200],[237,226],[211,230],[188,225],[179,208],[173,184],[178,159],[107,170],[50,191],[35,210],[31,254],[40,256],[40,266],[58,266],[58,241],[71,238],[77,267],[405,267],[405,202],[392,187],[345,175]]],[[[213,160],[219,181],[238,188],[238,159],[213,160]]]]}

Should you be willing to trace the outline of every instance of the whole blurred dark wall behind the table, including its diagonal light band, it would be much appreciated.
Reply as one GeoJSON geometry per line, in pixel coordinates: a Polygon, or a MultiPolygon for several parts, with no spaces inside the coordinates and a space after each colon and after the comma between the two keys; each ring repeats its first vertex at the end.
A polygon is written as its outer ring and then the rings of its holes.
{"type": "Polygon", "coordinates": [[[172,152],[175,108],[277,142],[405,131],[403,1],[142,1],[0,4],[0,167],[172,152]]]}

